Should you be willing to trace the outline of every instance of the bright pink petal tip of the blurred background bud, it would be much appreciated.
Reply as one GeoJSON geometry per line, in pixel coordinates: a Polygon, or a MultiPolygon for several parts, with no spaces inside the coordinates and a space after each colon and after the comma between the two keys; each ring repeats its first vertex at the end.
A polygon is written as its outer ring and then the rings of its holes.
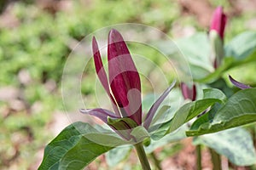
{"type": "Polygon", "coordinates": [[[218,32],[218,35],[224,39],[224,28],[226,26],[227,17],[223,12],[222,7],[218,7],[215,9],[212,14],[212,23],[210,30],[215,30],[218,32]]]}

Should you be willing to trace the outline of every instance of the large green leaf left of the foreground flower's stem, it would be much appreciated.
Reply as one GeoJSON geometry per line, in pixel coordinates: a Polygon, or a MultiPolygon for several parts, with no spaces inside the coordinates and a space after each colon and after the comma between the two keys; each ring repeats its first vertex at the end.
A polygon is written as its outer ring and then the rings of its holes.
{"type": "Polygon", "coordinates": [[[46,146],[38,169],[82,169],[114,146],[127,143],[106,132],[100,133],[84,122],[69,125],[46,146]]]}

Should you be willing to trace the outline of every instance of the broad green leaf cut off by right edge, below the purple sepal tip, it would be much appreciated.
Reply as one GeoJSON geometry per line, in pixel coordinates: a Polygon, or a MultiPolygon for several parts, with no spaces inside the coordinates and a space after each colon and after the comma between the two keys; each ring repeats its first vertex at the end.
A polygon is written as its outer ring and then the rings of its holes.
{"type": "Polygon", "coordinates": [[[256,122],[256,88],[241,90],[232,95],[222,106],[212,121],[197,122],[192,125],[186,134],[198,136],[206,133],[216,133],[231,127],[238,127],[247,123],[256,122]]]}

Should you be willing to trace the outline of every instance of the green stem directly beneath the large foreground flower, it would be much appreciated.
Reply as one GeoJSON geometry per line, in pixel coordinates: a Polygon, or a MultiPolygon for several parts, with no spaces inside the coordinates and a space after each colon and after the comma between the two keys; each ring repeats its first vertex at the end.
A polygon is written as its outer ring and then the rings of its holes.
{"type": "Polygon", "coordinates": [[[135,149],[137,150],[137,156],[142,164],[143,170],[151,170],[150,165],[148,163],[148,158],[146,156],[146,152],[143,148],[143,143],[134,144],[135,149]]]}

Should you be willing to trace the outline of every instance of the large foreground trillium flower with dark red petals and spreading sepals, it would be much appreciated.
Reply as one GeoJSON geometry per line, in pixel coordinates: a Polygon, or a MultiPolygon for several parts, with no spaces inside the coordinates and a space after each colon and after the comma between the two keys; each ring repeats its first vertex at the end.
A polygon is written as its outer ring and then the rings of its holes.
{"type": "Polygon", "coordinates": [[[133,138],[130,134],[132,128],[143,125],[148,129],[154,113],[170,93],[175,82],[156,100],[143,122],[140,77],[119,31],[112,29],[108,34],[108,76],[95,37],[92,38],[92,52],[97,77],[112,102],[113,111],[102,108],[80,111],[98,117],[123,139],[130,140],[133,138]]]}

